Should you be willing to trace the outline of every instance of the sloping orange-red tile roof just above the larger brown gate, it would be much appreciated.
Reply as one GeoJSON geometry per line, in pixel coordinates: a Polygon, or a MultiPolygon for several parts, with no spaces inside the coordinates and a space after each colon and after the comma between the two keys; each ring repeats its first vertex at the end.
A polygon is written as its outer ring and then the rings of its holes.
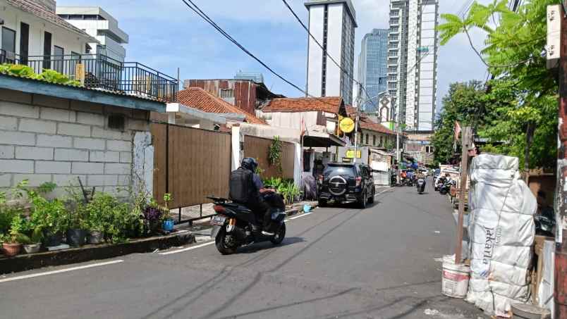
{"type": "Polygon", "coordinates": [[[178,100],[179,103],[185,106],[197,108],[208,113],[238,113],[245,115],[247,123],[267,125],[266,121],[219,99],[200,87],[188,87],[179,91],[178,100]]]}

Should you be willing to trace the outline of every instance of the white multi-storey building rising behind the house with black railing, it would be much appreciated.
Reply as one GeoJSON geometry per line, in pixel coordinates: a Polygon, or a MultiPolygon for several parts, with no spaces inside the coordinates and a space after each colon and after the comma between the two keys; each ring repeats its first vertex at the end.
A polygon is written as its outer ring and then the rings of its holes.
{"type": "Polygon", "coordinates": [[[58,6],[56,13],[68,23],[85,30],[99,42],[90,43],[92,54],[103,54],[124,61],[128,35],[118,27],[118,21],[97,6],[58,6]]]}

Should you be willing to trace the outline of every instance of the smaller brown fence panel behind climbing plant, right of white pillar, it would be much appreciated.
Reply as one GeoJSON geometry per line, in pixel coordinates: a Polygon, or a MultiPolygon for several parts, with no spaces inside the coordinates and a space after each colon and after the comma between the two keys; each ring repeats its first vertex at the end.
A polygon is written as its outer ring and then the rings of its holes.
{"type": "Polygon", "coordinates": [[[253,157],[258,161],[258,165],[264,173],[262,177],[284,177],[293,178],[293,165],[295,163],[295,145],[289,142],[281,142],[281,168],[282,175],[278,172],[275,165],[269,165],[268,149],[273,139],[264,139],[262,137],[252,137],[246,135],[244,137],[244,156],[253,157]]]}

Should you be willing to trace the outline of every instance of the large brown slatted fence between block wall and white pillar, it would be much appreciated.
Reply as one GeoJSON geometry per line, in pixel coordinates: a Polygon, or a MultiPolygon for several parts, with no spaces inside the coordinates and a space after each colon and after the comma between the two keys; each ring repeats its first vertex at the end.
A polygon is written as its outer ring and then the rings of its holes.
{"type": "Polygon", "coordinates": [[[206,196],[228,196],[231,135],[152,123],[154,197],[171,194],[170,208],[211,202],[206,196]]]}

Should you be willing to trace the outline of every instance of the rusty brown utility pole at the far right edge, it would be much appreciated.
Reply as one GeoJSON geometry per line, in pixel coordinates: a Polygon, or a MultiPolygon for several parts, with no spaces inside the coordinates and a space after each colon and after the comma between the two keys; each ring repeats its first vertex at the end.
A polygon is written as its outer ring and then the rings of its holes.
{"type": "MultiPolygon", "coordinates": [[[[564,1],[561,1],[562,3],[564,1]]],[[[563,6],[565,8],[565,6],[563,6]]],[[[561,49],[559,59],[559,145],[556,182],[556,253],[555,253],[555,318],[567,318],[567,18],[561,14],[561,49]]]]}

